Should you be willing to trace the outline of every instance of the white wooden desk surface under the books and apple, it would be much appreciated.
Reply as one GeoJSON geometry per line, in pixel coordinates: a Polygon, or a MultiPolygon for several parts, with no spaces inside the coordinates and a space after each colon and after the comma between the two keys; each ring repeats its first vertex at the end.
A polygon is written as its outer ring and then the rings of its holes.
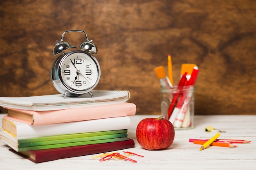
{"type": "MultiPolygon", "coordinates": [[[[59,159],[45,163],[33,163],[14,153],[0,142],[1,170],[255,170],[256,167],[256,115],[212,115],[195,116],[195,128],[192,130],[176,130],[173,144],[166,150],[149,151],[139,146],[136,140],[136,127],[141,119],[158,117],[158,115],[130,116],[129,137],[135,140],[135,148],[126,149],[144,157],[130,158],[137,163],[124,160],[100,162],[92,159],[95,155],[59,159]],[[205,132],[205,127],[226,130],[220,138],[244,139],[249,144],[237,144],[238,148],[211,146],[199,151],[200,145],[189,142],[189,138],[210,138],[216,132],[205,132]]],[[[120,150],[119,152],[125,150],[120,150]]],[[[99,155],[99,154],[96,154],[99,155]]]]}

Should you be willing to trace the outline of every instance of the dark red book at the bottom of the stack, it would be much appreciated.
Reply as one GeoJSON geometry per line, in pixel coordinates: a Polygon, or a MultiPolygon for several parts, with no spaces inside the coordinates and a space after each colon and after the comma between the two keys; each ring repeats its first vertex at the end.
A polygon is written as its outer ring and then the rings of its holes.
{"type": "Polygon", "coordinates": [[[29,159],[30,161],[33,161],[34,163],[41,163],[63,158],[79,157],[84,155],[92,155],[114,150],[133,148],[134,146],[134,141],[129,139],[128,141],[116,141],[103,144],[70,146],[54,149],[29,150],[22,152],[16,152],[13,149],[9,150],[13,153],[16,153],[17,155],[29,159]]]}

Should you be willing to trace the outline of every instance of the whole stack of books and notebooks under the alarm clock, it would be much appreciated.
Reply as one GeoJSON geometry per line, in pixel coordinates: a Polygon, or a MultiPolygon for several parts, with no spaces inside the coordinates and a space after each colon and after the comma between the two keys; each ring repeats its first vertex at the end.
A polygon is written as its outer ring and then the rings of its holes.
{"type": "Polygon", "coordinates": [[[128,91],[92,91],[94,97],[0,97],[8,113],[0,140],[35,163],[134,147],[128,138],[135,104],[128,91]]]}

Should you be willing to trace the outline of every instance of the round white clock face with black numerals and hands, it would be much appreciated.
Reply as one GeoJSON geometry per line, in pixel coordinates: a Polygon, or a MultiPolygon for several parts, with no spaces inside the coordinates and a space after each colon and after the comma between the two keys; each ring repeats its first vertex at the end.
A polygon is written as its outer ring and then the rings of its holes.
{"type": "Polygon", "coordinates": [[[59,77],[72,91],[87,91],[97,85],[100,70],[97,60],[86,52],[74,51],[60,62],[59,77]]]}

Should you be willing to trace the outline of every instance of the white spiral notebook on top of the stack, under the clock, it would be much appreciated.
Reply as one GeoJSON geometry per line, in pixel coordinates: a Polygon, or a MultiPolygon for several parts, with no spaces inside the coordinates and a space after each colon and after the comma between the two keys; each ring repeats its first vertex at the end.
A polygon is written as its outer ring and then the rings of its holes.
{"type": "Polygon", "coordinates": [[[86,93],[78,97],[63,98],[62,94],[29,97],[0,97],[0,106],[7,108],[47,111],[86,106],[117,104],[130,99],[129,91],[92,90],[94,97],[86,93]]]}

